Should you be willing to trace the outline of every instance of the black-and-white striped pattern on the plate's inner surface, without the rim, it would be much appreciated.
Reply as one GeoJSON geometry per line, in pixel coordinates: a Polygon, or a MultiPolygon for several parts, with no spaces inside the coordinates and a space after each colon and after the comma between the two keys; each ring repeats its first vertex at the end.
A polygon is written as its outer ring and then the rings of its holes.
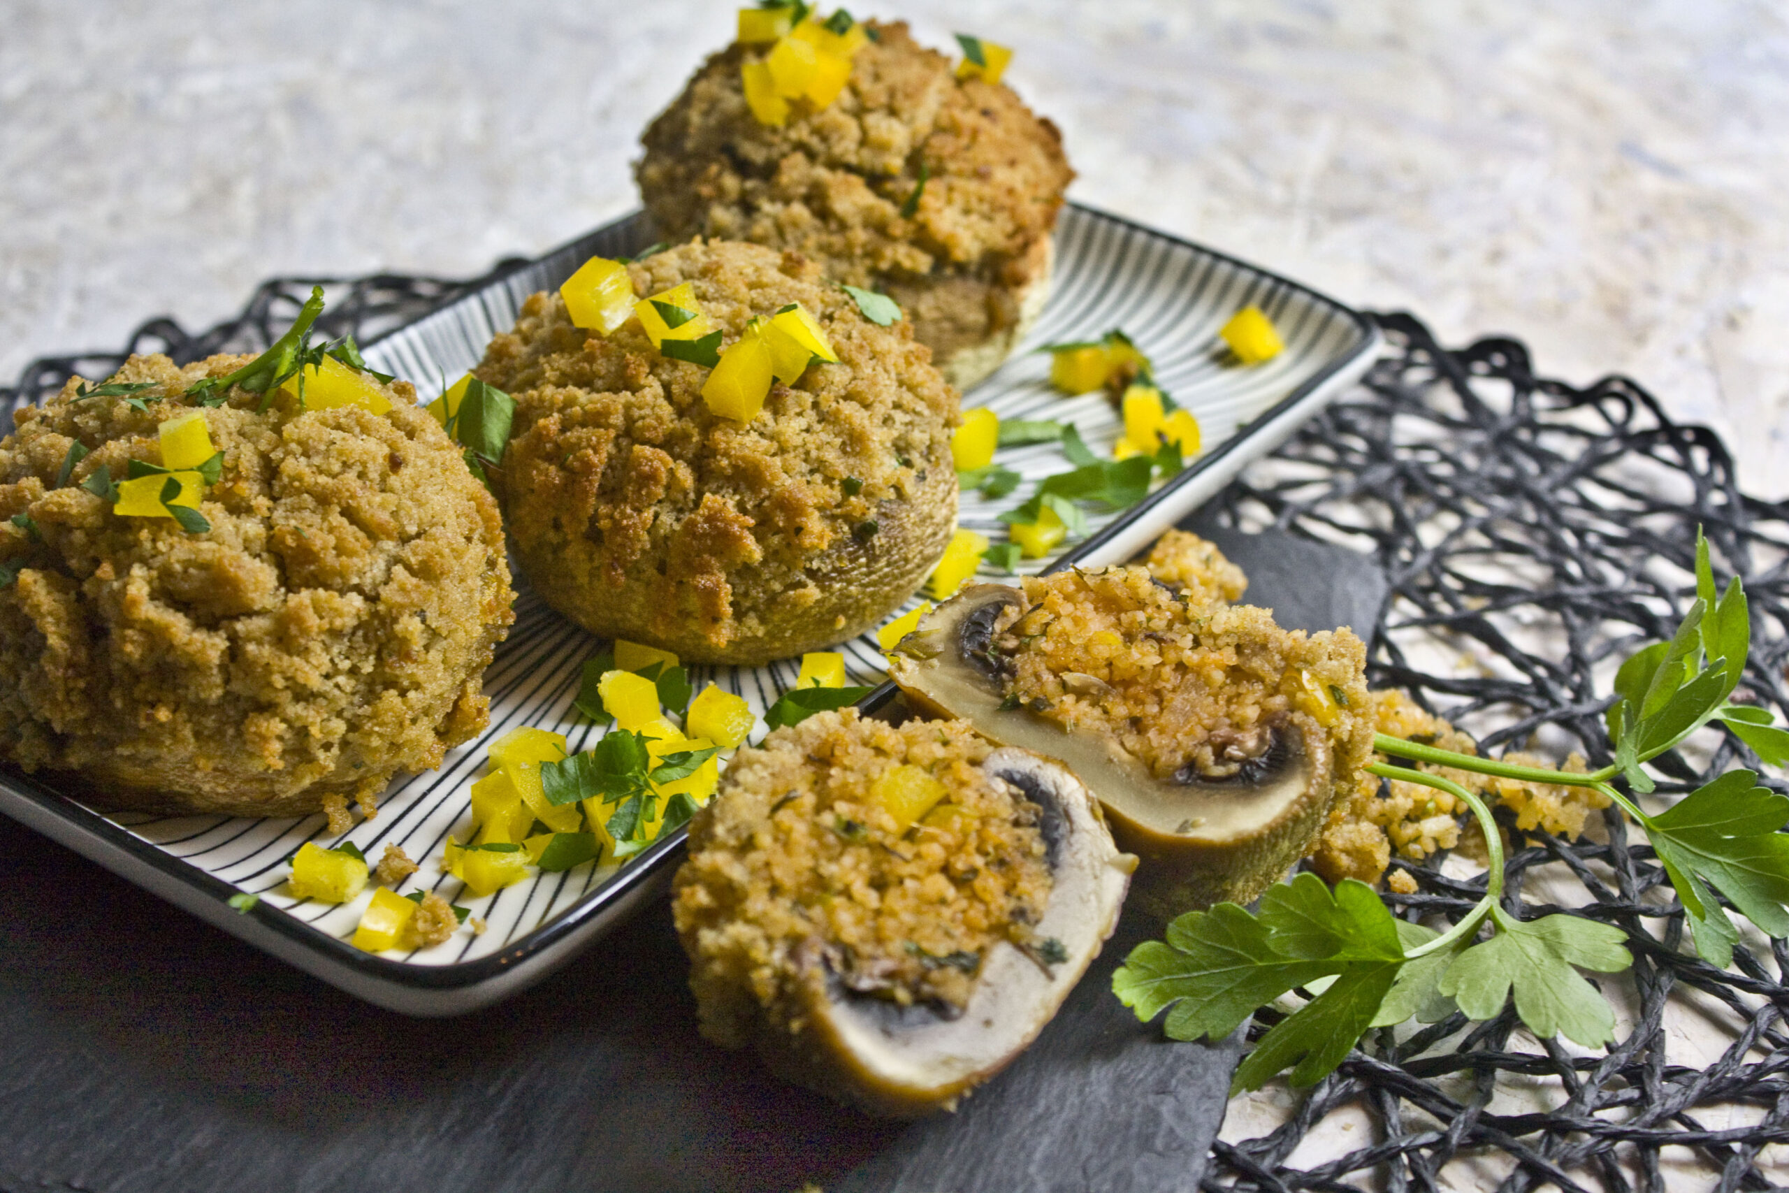
{"type": "MultiPolygon", "coordinates": [[[[522,300],[562,283],[590,256],[623,256],[649,238],[646,216],[637,213],[610,224],[540,261],[490,284],[451,308],[404,327],[367,349],[374,368],[415,381],[433,397],[444,385],[478,363],[488,340],[510,329],[522,300]]],[[[1340,383],[1365,367],[1374,342],[1370,326],[1358,315],[1293,283],[1277,279],[1220,254],[1188,245],[1157,233],[1125,224],[1084,207],[1070,207],[1057,233],[1056,288],[1030,338],[1000,372],[977,386],[964,406],[991,406],[1002,419],[1061,419],[1073,422],[1095,453],[1111,453],[1120,433],[1118,419],[1100,393],[1064,399],[1048,386],[1048,356],[1029,349],[1061,340],[1095,338],[1122,327],[1156,363],[1157,381],[1175,401],[1193,411],[1204,433],[1204,456],[1177,478],[1172,492],[1156,494],[1149,503],[1113,515],[1093,517],[1088,544],[1068,544],[1059,560],[1030,562],[1027,567],[1073,562],[1111,562],[1147,542],[1181,513],[1215,492],[1242,463],[1268,447],[1290,424],[1318,404],[1340,383]],[[1217,338],[1218,327],[1247,304],[1256,304],[1279,327],[1286,351],[1274,361],[1252,368],[1225,365],[1217,338]]],[[[1002,463],[1023,474],[1025,485],[1009,497],[989,503],[975,494],[962,501],[961,524],[1004,542],[1004,526],[995,520],[1002,510],[1023,501],[1032,485],[1064,470],[1056,445],[1002,453],[1002,463]]],[[[483,737],[454,749],[440,771],[394,783],[379,805],[379,816],[358,825],[349,839],[377,860],[388,842],[395,842],[422,864],[403,891],[440,889],[451,900],[467,903],[487,923],[483,935],[460,932],[444,946],[404,957],[410,968],[465,966],[497,953],[524,959],[530,939],[549,923],[578,916],[621,916],[628,900],[615,898],[614,884],[644,882],[648,871],[664,876],[664,866],[635,864],[630,869],[581,866],[560,875],[538,875],[485,900],[467,900],[460,884],[438,869],[442,844],[449,833],[465,839],[471,828],[467,789],[483,773],[485,746],[515,726],[540,726],[567,735],[571,749],[594,744],[592,728],[578,717],[571,701],[578,690],[580,664],[598,642],[547,610],[524,583],[519,585],[517,622],[490,671],[485,690],[492,699],[490,728],[483,737]],[[639,875],[639,878],[635,878],[639,875]],[[598,894],[599,889],[605,889],[598,894]]],[[[911,608],[909,603],[905,608],[911,608]]],[[[905,610],[902,610],[905,612],[905,610]]],[[[882,656],[873,635],[841,646],[853,683],[880,683],[882,656]]],[[[794,681],[800,660],[766,667],[696,667],[698,690],[708,681],[737,692],[762,710],[794,681]]],[[[4,792],[0,792],[4,794],[4,792]]],[[[318,934],[345,939],[352,934],[369,896],[342,905],[320,905],[286,894],[286,859],[304,841],[333,844],[324,835],[320,816],[306,819],[222,819],[222,817],[148,817],[113,816],[140,842],[154,846],[190,867],[193,882],[211,891],[216,884],[199,880],[209,875],[234,889],[261,896],[263,907],[311,925],[318,934]]],[[[55,832],[75,848],[75,828],[55,832]]],[[[116,848],[116,842],[113,842],[116,848]]],[[[657,851],[655,851],[657,853],[657,851]]],[[[89,851],[100,857],[100,851],[89,851]]],[[[106,862],[111,864],[111,862],[106,862]]],[[[166,866],[161,866],[166,871],[166,866]]],[[[193,905],[190,900],[181,900],[193,905]]],[[[292,932],[286,932],[290,937],[292,932]]],[[[308,934],[299,934],[306,937],[308,934]]],[[[551,948],[574,948],[590,934],[549,934],[551,948]]],[[[309,937],[317,948],[340,948],[322,937],[309,937]]],[[[290,948],[277,950],[290,955],[290,948]]],[[[395,959],[395,955],[394,955],[395,959]]],[[[538,959],[537,959],[538,960],[538,959]]],[[[331,968],[306,964],[329,980],[331,968]]],[[[538,966],[544,973],[546,962],[538,966]]],[[[403,968],[385,968],[385,982],[404,982],[403,968]]],[[[365,977],[365,975],[363,975],[365,977]]],[[[343,982],[347,984],[347,982],[343,982]]],[[[406,994],[406,1009],[422,1009],[422,982],[406,994]]],[[[504,993],[515,984],[504,982],[504,993]]],[[[365,982],[356,993],[365,994],[365,982]]],[[[381,998],[385,1002],[385,998],[381,998]]],[[[394,1005],[401,1000],[392,1000],[394,1005]]],[[[456,1002],[456,1009],[465,1000],[456,1002]]]]}

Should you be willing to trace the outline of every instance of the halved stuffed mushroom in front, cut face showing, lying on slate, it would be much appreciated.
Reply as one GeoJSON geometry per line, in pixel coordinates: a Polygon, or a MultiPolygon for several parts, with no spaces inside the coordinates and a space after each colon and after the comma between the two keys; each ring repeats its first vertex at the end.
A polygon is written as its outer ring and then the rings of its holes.
{"type": "Polygon", "coordinates": [[[871,1113],[950,1107],[1056,1014],[1134,866],[1047,758],[961,721],[814,715],[742,749],[691,823],[701,1032],[871,1113]]]}

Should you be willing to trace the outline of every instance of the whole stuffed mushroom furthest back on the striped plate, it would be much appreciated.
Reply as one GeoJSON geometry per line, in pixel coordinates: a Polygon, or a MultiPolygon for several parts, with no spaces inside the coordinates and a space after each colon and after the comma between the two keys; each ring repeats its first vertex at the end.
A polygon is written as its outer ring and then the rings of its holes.
{"type": "Polygon", "coordinates": [[[796,100],[782,127],[760,123],[741,86],[741,64],[767,47],[710,57],[646,129],[640,195],[671,238],[796,249],[886,292],[968,388],[1043,308],[1073,170],[1056,125],[1011,88],[957,79],[905,23],[869,27],[877,39],[839,98],[818,111],[796,100]]]}

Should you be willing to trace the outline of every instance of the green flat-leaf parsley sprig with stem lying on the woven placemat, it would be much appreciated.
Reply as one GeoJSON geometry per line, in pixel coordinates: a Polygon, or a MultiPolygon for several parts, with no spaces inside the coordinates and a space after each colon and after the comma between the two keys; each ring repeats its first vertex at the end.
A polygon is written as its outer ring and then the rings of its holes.
{"type": "MultiPolygon", "coordinates": [[[[1698,728],[1719,721],[1769,766],[1789,764],[1789,730],[1766,708],[1734,705],[1746,665],[1751,621],[1734,578],[1716,594],[1708,544],[1696,535],[1696,599],[1669,642],[1628,658],[1608,710],[1612,766],[1590,773],[1549,771],[1462,755],[1379,733],[1374,749],[1417,764],[1533,783],[1589,787],[1619,805],[1648,835],[1691,925],[1696,952],[1728,968],[1739,932],[1723,898],[1773,937],[1789,935],[1789,796],[1728,771],[1648,816],[1614,783],[1649,792],[1644,769],[1698,728]]],[[[1372,887],[1352,878],[1333,891],[1301,873],[1261,896],[1259,910],[1234,903],[1188,912],[1165,941],[1136,946],[1113,975],[1113,993],[1140,1020],[1168,1012],[1174,1039],[1220,1039],[1254,1011],[1290,991],[1315,993],[1276,1023],[1243,1059],[1231,1093],[1258,1089],[1292,1070],[1293,1086],[1331,1073],[1372,1027],[1417,1018],[1440,1021],[1458,1011],[1490,1020],[1513,998],[1515,1014],[1540,1039],[1565,1036],[1585,1046],[1614,1039],[1608,1000],[1581,971],[1617,973],[1632,964],[1621,928],[1573,914],[1530,919],[1521,900],[1505,901],[1503,841],[1490,808],[1465,787],[1406,766],[1370,773],[1446,791],[1485,830],[1485,896],[1447,932],[1395,919],[1372,887]]]]}

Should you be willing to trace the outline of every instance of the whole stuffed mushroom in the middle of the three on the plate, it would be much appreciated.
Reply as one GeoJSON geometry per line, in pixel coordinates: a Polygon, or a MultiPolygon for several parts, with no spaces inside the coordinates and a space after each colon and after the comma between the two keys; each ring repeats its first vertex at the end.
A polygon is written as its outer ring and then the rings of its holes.
{"type": "Polygon", "coordinates": [[[905,324],[878,327],[793,252],[692,241],[630,267],[646,297],[691,283],[732,345],[805,308],[839,363],[771,386],[739,422],[708,368],[610,336],[537,293],[478,376],[517,404],[496,474],[528,581],[592,633],[689,662],[762,664],[862,633],[930,572],[957,515],[957,393],[905,324]]]}

